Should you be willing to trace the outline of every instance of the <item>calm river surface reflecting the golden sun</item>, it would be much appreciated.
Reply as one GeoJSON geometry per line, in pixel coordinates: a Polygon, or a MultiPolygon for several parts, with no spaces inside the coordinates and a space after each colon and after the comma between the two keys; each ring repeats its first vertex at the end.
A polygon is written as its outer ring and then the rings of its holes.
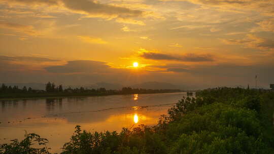
{"type": "Polygon", "coordinates": [[[2,101],[0,143],[22,139],[26,130],[49,139],[51,152],[60,152],[76,125],[91,132],[153,126],[183,96],[186,93],[2,101]]]}

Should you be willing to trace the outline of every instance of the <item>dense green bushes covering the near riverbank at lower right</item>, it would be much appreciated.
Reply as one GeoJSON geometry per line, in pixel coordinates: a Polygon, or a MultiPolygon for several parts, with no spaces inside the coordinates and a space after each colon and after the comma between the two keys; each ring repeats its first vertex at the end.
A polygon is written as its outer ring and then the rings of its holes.
{"type": "MultiPolygon", "coordinates": [[[[153,127],[90,133],[76,126],[62,154],[274,153],[273,108],[273,91],[202,90],[196,98],[180,100],[153,127]]],[[[12,144],[2,145],[0,151],[12,149],[12,144]]]]}

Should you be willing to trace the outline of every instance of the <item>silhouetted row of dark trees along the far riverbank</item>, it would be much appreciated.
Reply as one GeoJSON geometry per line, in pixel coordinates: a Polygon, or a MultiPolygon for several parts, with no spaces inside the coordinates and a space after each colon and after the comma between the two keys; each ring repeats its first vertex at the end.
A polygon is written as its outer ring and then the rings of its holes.
{"type": "Polygon", "coordinates": [[[18,88],[18,86],[7,86],[2,84],[0,87],[0,94],[72,94],[72,93],[83,93],[83,94],[146,94],[146,93],[172,93],[181,92],[179,89],[139,89],[124,87],[121,90],[107,90],[106,88],[98,89],[88,89],[84,87],[80,88],[63,88],[62,85],[55,85],[54,83],[48,82],[45,85],[45,90],[35,90],[31,87],[24,86],[23,88],[18,88]]]}

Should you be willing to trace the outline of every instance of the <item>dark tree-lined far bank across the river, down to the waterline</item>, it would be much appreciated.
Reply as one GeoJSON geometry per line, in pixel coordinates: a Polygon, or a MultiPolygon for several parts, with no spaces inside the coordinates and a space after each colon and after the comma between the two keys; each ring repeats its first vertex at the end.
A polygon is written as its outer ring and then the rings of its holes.
{"type": "Polygon", "coordinates": [[[124,87],[121,90],[107,90],[106,88],[87,89],[87,88],[71,88],[63,89],[62,85],[55,86],[54,83],[48,82],[45,90],[34,90],[26,87],[22,89],[18,86],[6,86],[2,84],[0,87],[0,98],[33,98],[33,97],[70,97],[70,96],[104,96],[104,95],[120,95],[120,94],[153,94],[153,93],[175,93],[181,92],[179,89],[139,89],[124,87]]]}

